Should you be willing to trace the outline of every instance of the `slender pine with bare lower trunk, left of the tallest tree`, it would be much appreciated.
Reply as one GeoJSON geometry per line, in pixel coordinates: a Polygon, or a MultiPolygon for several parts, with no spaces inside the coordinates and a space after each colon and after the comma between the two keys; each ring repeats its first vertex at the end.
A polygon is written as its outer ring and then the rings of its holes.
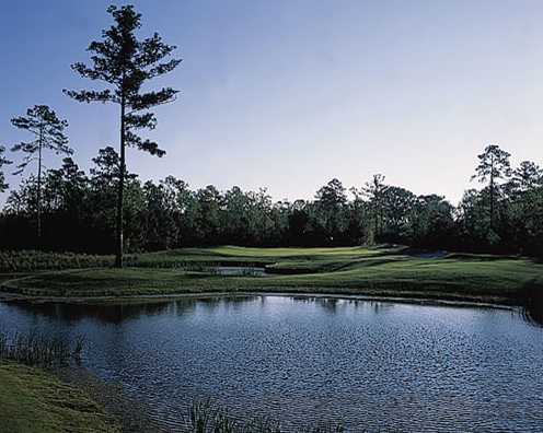
{"type": "Polygon", "coordinates": [[[11,150],[13,152],[23,152],[26,155],[23,162],[18,165],[14,174],[21,174],[27,165],[37,162],[37,238],[42,237],[42,169],[43,152],[45,150],[54,151],[57,155],[71,155],[73,151],[68,147],[68,138],[65,129],[68,121],[61,120],[57,114],[47,105],[35,105],[26,110],[26,116],[14,117],[11,119],[15,128],[28,131],[34,136],[32,141],[23,141],[15,144],[11,150]]]}

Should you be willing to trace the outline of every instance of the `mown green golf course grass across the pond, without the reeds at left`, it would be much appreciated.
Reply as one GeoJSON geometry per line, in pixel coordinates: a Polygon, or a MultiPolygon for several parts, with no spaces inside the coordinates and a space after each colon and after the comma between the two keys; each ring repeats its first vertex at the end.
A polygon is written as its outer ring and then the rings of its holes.
{"type": "Polygon", "coordinates": [[[209,292],[305,292],[520,303],[543,290],[528,258],[446,255],[404,248],[186,248],[137,256],[123,270],[62,270],[5,279],[1,290],[67,299],[209,292]],[[215,266],[266,266],[267,277],[222,277],[215,266]]]}

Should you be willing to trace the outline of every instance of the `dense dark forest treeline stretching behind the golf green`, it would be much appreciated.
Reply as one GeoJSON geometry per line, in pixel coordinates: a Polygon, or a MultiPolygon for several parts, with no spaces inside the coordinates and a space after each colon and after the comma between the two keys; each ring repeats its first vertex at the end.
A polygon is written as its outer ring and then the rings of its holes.
{"type": "MultiPolygon", "coordinates": [[[[4,159],[5,160],[5,159],[4,159]]],[[[543,256],[543,171],[533,162],[510,167],[509,154],[489,145],[478,155],[458,206],[417,196],[376,175],[347,189],[338,179],[313,200],[274,202],[266,189],[190,189],[174,176],[141,182],[127,173],[124,196],[128,251],[195,245],[339,246],[400,243],[419,248],[543,256]],[[477,165],[478,164],[478,165],[477,165]]],[[[104,148],[86,174],[71,156],[48,169],[38,187],[27,176],[9,192],[0,214],[4,249],[112,253],[119,155],[104,148]],[[37,232],[41,191],[42,233],[37,232]]],[[[467,180],[467,179],[466,179],[467,180]]]]}

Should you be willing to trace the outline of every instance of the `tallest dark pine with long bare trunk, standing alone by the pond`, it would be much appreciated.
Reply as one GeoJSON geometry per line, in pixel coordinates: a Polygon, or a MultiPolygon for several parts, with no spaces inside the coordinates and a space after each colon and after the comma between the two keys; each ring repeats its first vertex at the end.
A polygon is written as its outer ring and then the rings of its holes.
{"type": "Polygon", "coordinates": [[[120,175],[118,183],[116,218],[116,266],[123,267],[123,194],[125,185],[126,145],[136,147],[152,155],[163,156],[165,152],[150,140],[141,139],[136,130],[154,129],[157,118],[150,108],[174,101],[177,91],[163,87],[157,92],[142,92],[142,85],[177,67],[178,59],[164,61],[176,47],[162,42],[159,34],[139,40],[136,31],[141,26],[141,14],[131,5],[109,7],[115,24],[102,33],[103,40],[93,42],[88,50],[93,52],[92,67],[74,63],[72,69],[81,77],[103,81],[108,89],[100,91],[67,91],[65,93],[79,102],[114,103],[120,107],[120,175]]]}

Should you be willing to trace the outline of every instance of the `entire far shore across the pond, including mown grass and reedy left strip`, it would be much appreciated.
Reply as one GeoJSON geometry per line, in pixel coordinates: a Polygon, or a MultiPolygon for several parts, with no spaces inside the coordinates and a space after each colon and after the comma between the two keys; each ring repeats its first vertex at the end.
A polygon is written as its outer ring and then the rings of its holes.
{"type": "Polygon", "coordinates": [[[33,303],[284,295],[509,308],[543,293],[543,265],[530,258],[420,256],[397,245],[186,248],[132,255],[123,269],[104,267],[107,256],[22,251],[8,259],[10,269],[0,266],[0,300],[33,303]],[[267,273],[255,272],[255,264],[267,273]],[[238,273],[221,273],[222,267],[238,273]]]}

